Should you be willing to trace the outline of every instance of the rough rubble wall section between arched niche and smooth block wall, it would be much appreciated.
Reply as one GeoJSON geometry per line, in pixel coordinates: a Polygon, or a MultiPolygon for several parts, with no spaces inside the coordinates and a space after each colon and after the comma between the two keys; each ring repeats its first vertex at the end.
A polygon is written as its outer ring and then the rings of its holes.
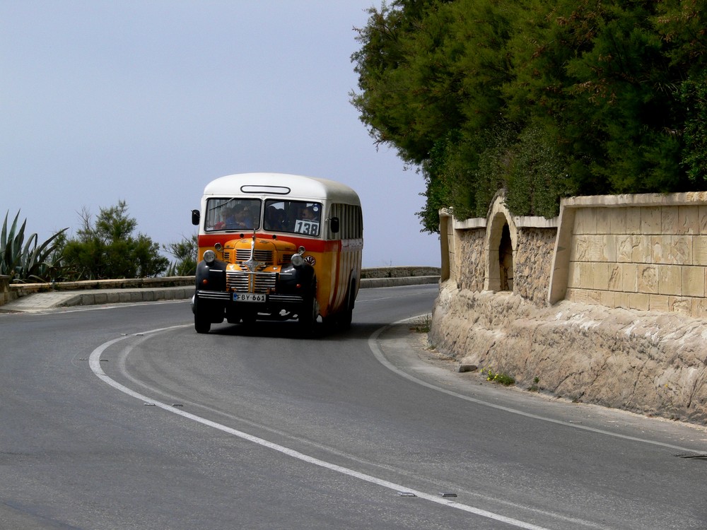
{"type": "Polygon", "coordinates": [[[515,249],[513,259],[513,292],[534,305],[546,306],[548,303],[547,291],[556,235],[556,228],[518,230],[518,248],[515,249]]]}

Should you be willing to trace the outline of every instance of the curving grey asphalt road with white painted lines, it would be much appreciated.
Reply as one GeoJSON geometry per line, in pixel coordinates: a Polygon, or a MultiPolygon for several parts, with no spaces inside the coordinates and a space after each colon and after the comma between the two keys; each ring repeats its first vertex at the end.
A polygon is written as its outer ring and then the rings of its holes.
{"type": "Polygon", "coordinates": [[[453,372],[366,289],[351,330],[194,333],[187,302],[0,315],[0,529],[704,529],[707,432],[453,372]],[[682,456],[678,456],[682,455],[682,456]]]}

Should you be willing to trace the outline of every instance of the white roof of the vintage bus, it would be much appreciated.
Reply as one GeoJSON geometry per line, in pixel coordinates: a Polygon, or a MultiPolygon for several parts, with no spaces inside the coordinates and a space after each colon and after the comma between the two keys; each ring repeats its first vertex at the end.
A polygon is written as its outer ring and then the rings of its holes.
{"type": "Polygon", "coordinates": [[[329,179],[288,175],[287,173],[240,173],[226,175],[206,184],[204,195],[269,196],[342,202],[361,206],[353,189],[329,179]]]}

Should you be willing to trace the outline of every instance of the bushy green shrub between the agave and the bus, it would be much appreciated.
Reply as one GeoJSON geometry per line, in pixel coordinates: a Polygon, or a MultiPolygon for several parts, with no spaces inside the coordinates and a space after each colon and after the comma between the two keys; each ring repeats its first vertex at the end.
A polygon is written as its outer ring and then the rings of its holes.
{"type": "Polygon", "coordinates": [[[137,221],[128,216],[125,201],[100,208],[95,223],[86,210],[81,218],[76,238],[64,246],[64,279],[146,278],[167,269],[159,245],[144,234],[133,235],[137,221]]]}

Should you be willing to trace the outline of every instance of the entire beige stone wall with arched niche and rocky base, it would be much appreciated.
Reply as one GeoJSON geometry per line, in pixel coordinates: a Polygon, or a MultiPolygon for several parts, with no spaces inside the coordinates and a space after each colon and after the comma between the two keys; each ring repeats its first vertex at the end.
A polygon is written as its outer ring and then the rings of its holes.
{"type": "Polygon", "coordinates": [[[707,193],[574,197],[551,220],[499,195],[485,219],[440,220],[432,346],[520,387],[707,423],[707,193]]]}

